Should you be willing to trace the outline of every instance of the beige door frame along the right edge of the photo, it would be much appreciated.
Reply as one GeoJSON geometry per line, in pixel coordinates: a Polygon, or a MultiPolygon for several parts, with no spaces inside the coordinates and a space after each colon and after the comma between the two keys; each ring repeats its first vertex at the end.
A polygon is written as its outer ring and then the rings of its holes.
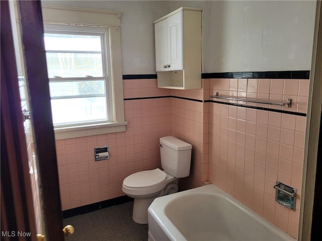
{"type": "Polygon", "coordinates": [[[308,93],[304,163],[298,240],[317,240],[320,236],[322,201],[322,7],[316,1],[315,28],[308,93]],[[315,205],[314,205],[315,203],[315,205]]]}

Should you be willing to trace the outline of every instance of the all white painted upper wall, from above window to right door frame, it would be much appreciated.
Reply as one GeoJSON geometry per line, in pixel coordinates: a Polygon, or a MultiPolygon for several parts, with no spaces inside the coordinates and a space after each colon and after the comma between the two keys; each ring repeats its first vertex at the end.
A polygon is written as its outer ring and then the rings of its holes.
{"type": "Polygon", "coordinates": [[[155,73],[152,22],[203,9],[202,72],[309,70],[315,1],[44,1],[122,15],[123,74],[155,73]]]}

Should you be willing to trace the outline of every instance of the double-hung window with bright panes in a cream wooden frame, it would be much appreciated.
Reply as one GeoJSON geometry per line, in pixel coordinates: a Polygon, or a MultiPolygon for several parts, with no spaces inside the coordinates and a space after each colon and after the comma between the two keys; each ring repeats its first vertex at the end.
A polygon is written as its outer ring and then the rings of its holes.
{"type": "Polygon", "coordinates": [[[107,29],[66,25],[45,29],[54,127],[111,122],[107,29]]]}

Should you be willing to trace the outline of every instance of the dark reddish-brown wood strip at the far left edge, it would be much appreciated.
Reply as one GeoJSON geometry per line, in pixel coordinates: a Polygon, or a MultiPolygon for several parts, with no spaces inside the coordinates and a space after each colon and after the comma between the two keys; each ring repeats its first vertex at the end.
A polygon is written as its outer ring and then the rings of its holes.
{"type": "Polygon", "coordinates": [[[33,235],[36,225],[8,1],[1,3],[0,52],[1,230],[8,231],[2,238],[10,240],[17,231],[33,235]]]}

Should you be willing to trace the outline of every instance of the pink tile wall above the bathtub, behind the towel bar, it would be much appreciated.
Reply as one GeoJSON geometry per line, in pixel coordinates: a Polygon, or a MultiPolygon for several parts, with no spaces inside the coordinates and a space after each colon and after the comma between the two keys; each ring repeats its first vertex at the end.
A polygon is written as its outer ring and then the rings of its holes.
{"type": "MultiPolygon", "coordinates": [[[[267,101],[292,98],[306,113],[309,80],[211,79],[210,94],[267,101]]],[[[219,100],[219,99],[216,99],[219,100]]],[[[231,101],[231,100],[230,100],[231,101]]],[[[236,101],[233,101],[236,102],[236,101]]],[[[209,181],[297,238],[306,117],[220,103],[209,105],[209,181]],[[276,181],[297,188],[296,211],[275,202],[276,181]]]]}

